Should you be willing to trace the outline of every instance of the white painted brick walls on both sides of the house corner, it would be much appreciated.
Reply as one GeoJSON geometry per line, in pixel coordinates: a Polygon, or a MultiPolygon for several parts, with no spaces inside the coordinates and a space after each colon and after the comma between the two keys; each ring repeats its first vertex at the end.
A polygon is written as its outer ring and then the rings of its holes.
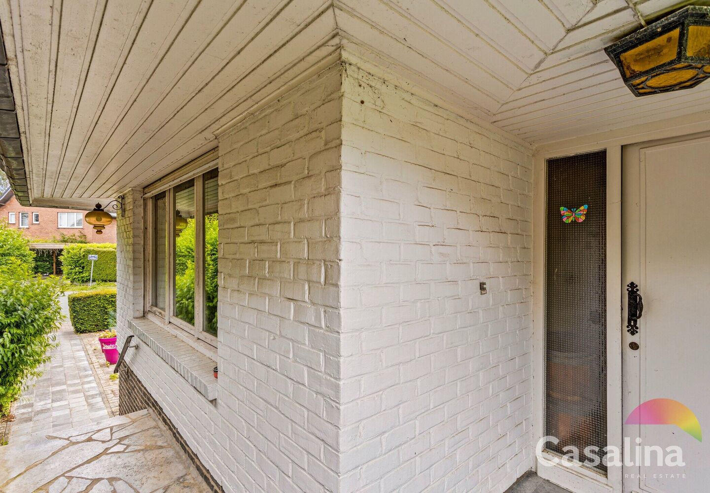
{"type": "Polygon", "coordinates": [[[145,347],[129,363],[224,489],[500,493],[528,470],[528,149],[343,63],[219,155],[217,401],[145,347]]]}

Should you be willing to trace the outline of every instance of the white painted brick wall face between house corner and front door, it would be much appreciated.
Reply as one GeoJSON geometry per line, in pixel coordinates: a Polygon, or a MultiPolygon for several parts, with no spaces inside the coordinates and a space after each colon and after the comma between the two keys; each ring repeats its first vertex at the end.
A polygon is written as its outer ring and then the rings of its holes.
{"type": "Polygon", "coordinates": [[[346,64],[341,491],[500,493],[532,467],[531,153],[394,80],[346,64]]]}

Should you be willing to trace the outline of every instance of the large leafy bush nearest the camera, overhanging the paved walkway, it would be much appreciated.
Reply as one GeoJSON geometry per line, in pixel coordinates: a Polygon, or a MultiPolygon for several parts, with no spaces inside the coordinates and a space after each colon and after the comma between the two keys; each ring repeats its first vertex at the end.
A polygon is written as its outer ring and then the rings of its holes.
{"type": "MultiPolygon", "coordinates": [[[[0,228],[1,229],[1,228],[0,228]]],[[[0,266],[0,415],[48,362],[55,347],[55,330],[62,318],[60,278],[43,281],[21,261],[4,259],[0,266]]]]}

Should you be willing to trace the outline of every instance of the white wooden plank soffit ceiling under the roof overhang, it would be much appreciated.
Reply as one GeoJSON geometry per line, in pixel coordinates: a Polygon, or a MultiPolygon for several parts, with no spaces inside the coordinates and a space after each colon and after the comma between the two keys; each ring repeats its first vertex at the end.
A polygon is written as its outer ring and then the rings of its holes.
{"type": "MultiPolygon", "coordinates": [[[[341,45],[535,145],[710,109],[710,84],[637,99],[603,47],[674,0],[4,0],[33,202],[110,197],[341,45]]],[[[702,4],[704,1],[694,1],[702,4]]]]}

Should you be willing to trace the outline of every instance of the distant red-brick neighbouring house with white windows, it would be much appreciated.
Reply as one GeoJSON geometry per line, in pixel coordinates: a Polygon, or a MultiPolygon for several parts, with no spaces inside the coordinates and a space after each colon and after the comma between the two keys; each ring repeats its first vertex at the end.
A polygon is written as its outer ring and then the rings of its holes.
{"type": "Polygon", "coordinates": [[[62,234],[82,233],[89,243],[116,243],[116,223],[97,234],[91,224],[84,222],[84,214],[89,210],[28,207],[18,202],[12,188],[0,194],[0,221],[20,229],[28,238],[51,241],[62,234]]]}

